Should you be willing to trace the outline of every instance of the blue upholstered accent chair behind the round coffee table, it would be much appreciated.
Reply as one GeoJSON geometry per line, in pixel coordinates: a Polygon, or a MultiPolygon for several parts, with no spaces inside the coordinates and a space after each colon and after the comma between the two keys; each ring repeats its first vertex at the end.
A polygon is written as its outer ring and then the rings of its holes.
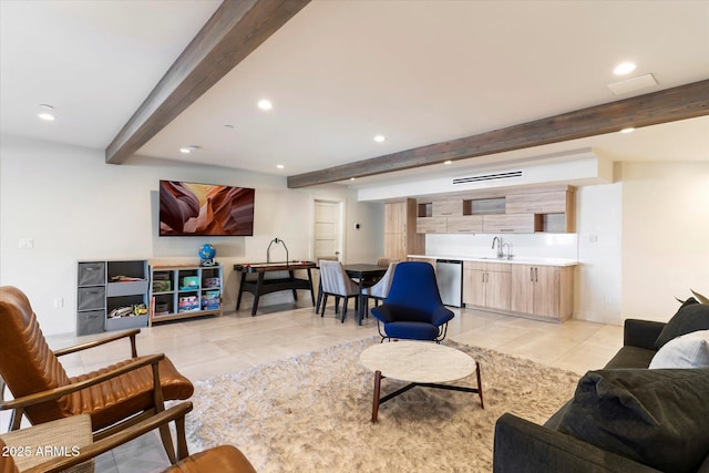
{"type": "Polygon", "coordinates": [[[372,308],[372,316],[382,342],[392,338],[441,342],[454,315],[441,301],[433,267],[404,261],[397,265],[389,295],[372,308]]]}

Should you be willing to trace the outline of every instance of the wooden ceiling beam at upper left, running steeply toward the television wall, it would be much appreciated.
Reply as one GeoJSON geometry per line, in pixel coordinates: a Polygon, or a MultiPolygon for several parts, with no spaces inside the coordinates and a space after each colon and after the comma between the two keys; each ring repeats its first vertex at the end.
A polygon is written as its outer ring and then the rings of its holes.
{"type": "Polygon", "coordinates": [[[224,0],[105,150],[121,164],[310,0],[224,0]]]}

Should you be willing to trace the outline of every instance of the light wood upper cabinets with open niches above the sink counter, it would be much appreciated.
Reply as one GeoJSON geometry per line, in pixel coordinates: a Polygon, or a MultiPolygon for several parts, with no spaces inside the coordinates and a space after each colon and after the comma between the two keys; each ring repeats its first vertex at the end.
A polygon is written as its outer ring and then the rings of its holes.
{"type": "Polygon", "coordinates": [[[417,232],[574,233],[576,188],[556,186],[458,194],[418,202],[417,232]]]}

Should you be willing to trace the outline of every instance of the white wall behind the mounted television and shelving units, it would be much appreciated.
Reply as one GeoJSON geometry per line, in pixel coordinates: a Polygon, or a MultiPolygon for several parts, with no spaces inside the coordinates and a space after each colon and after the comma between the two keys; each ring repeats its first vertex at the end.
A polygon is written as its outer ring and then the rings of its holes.
{"type": "Polygon", "coordinates": [[[285,177],[160,160],[109,165],[101,150],[2,136],[0,285],[29,296],[45,333],[68,333],[75,330],[78,260],[197,264],[197,248],[212,243],[225,269],[224,304],[233,310],[235,263],[264,261],[275,236],[287,243],[291,259],[310,258],[315,198],[346,203],[347,261],[382,254],[383,206],[359,203],[342,186],[288,189],[285,177]],[[256,188],[254,236],[157,237],[160,179],[256,188]],[[19,239],[33,239],[34,247],[20,249],[19,239]],[[63,307],[54,308],[54,299],[63,307]]]}

